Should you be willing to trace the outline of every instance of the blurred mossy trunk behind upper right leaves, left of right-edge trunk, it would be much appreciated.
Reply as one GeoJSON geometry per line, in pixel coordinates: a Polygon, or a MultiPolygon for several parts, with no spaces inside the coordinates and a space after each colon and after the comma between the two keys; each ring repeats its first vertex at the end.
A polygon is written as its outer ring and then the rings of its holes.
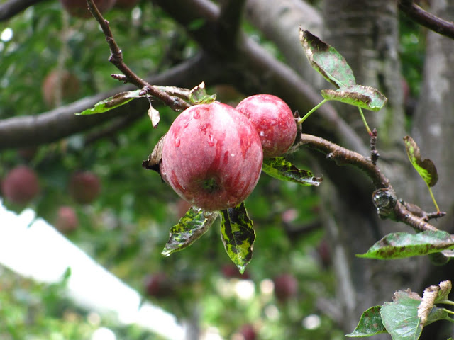
{"type": "MultiPolygon", "coordinates": [[[[391,180],[399,198],[411,188],[406,172],[411,170],[404,154],[404,110],[399,56],[398,11],[396,1],[326,0],[325,41],[336,48],[352,67],[358,84],[373,86],[387,96],[380,112],[365,112],[371,128],[378,131],[378,166],[391,180]]],[[[328,86],[326,88],[329,88],[328,86]]],[[[365,144],[370,142],[358,109],[345,104],[336,106],[365,144]]],[[[367,155],[365,155],[367,156],[367,155]]],[[[353,171],[333,169],[333,186],[323,200],[328,235],[334,249],[338,300],[343,304],[342,324],[353,331],[362,312],[392,300],[395,290],[411,288],[411,277],[421,259],[369,261],[358,259],[377,240],[389,232],[408,231],[408,227],[377,217],[372,206],[371,185],[359,181],[353,171]],[[365,196],[365,192],[369,192],[365,196]]],[[[323,183],[326,185],[326,183],[323,183]]],[[[381,339],[375,336],[372,339],[381,339]]],[[[384,336],[388,339],[389,335],[384,336]]]]}

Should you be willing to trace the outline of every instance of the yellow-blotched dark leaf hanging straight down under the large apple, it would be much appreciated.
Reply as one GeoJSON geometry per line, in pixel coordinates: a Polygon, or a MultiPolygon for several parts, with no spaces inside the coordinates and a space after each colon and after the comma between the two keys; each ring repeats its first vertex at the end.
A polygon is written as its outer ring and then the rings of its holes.
{"type": "Polygon", "coordinates": [[[224,248],[240,273],[244,273],[253,256],[255,240],[253,221],[249,219],[244,203],[235,208],[222,210],[221,216],[221,239],[224,248]]]}

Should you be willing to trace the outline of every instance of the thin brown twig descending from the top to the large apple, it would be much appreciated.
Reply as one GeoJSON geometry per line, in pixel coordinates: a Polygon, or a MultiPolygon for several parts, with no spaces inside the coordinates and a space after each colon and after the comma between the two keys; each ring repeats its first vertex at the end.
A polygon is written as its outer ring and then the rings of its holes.
{"type": "Polygon", "coordinates": [[[106,41],[111,50],[111,57],[109,57],[109,62],[114,64],[114,66],[126,76],[126,80],[129,83],[137,86],[139,89],[145,89],[148,94],[159,99],[160,101],[162,101],[162,103],[165,103],[166,106],[170,106],[170,108],[172,108],[172,110],[174,111],[182,111],[185,108],[188,108],[189,104],[183,101],[181,98],[170,96],[164,91],[156,89],[155,86],[148,84],[147,81],[138,77],[137,74],[135,74],[123,62],[123,52],[121,52],[120,47],[118,47],[118,45],[116,44],[114,35],[112,34],[109,26],[109,21],[106,21],[106,19],[103,18],[101,12],[99,12],[93,0],[87,0],[87,4],[90,13],[92,13],[92,16],[94,16],[94,18],[96,18],[96,21],[98,21],[99,26],[101,26],[104,35],[106,35],[106,41]]]}

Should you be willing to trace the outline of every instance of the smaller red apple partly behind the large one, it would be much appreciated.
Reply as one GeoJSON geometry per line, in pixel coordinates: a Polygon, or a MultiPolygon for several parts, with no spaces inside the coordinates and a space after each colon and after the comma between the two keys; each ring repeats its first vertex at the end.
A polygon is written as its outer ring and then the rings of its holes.
{"type": "Polygon", "coordinates": [[[297,123],[292,110],[281,98],[257,94],[244,98],[236,109],[244,113],[257,129],[263,157],[280,156],[293,145],[297,137],[297,123]]]}

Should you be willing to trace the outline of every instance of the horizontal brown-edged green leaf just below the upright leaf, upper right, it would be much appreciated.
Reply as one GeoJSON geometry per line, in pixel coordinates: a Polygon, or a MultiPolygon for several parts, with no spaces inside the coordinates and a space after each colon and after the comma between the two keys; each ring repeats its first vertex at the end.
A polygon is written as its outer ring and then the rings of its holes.
{"type": "Polygon", "coordinates": [[[371,111],[379,111],[388,101],[377,89],[363,85],[346,86],[337,90],[321,90],[321,96],[330,101],[341,101],[371,111]]]}

